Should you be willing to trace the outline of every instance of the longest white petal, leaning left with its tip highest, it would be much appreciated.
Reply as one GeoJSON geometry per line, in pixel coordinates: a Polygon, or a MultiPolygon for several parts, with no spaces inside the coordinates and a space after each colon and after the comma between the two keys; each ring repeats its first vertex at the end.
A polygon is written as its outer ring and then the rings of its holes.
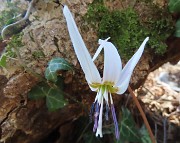
{"type": "Polygon", "coordinates": [[[91,56],[78,31],[73,16],[67,6],[64,6],[63,13],[66,18],[69,35],[72,40],[75,53],[85,73],[86,80],[89,83],[100,83],[101,82],[100,74],[97,70],[97,67],[95,66],[95,64],[91,59],[91,56]]]}

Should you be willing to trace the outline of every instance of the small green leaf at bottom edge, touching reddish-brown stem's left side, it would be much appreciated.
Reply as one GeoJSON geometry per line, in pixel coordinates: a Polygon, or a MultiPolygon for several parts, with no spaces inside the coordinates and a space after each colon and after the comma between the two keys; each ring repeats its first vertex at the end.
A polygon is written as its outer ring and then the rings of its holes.
{"type": "Polygon", "coordinates": [[[144,125],[141,127],[139,132],[141,134],[141,143],[151,143],[151,138],[150,138],[149,133],[144,125]]]}

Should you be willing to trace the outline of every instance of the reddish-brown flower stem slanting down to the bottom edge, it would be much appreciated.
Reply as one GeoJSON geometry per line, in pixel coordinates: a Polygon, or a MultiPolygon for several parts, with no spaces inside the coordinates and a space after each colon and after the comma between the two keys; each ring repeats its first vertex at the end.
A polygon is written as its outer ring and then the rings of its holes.
{"type": "Polygon", "coordinates": [[[136,96],[134,95],[134,93],[133,93],[133,91],[132,91],[130,86],[128,87],[128,91],[130,92],[130,94],[131,94],[131,96],[132,96],[132,98],[133,98],[133,100],[134,100],[134,102],[135,102],[135,104],[136,104],[136,106],[137,106],[137,108],[138,108],[142,118],[143,118],[144,124],[145,124],[145,126],[146,126],[146,128],[147,128],[147,130],[149,132],[149,135],[150,135],[152,143],[156,143],[156,140],[154,138],[154,135],[152,133],[152,130],[151,130],[151,127],[150,127],[150,125],[148,123],[146,115],[144,114],[144,111],[142,110],[142,107],[141,107],[139,101],[137,100],[136,96]]]}

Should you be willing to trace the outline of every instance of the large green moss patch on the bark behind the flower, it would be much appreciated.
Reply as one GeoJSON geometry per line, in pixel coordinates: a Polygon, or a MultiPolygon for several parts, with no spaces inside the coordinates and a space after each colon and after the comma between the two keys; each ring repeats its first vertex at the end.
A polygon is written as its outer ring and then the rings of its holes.
{"type": "Polygon", "coordinates": [[[105,39],[111,37],[110,41],[118,48],[123,59],[129,59],[139,48],[145,37],[149,36],[148,47],[156,54],[163,54],[166,51],[166,38],[172,32],[172,22],[162,16],[161,18],[148,18],[141,22],[138,13],[132,9],[108,10],[100,3],[92,3],[85,19],[97,29],[98,37],[105,39]]]}

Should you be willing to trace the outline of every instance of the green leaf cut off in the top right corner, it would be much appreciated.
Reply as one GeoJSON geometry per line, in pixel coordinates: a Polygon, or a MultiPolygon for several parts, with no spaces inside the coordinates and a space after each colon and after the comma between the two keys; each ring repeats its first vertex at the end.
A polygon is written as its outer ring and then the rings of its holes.
{"type": "Polygon", "coordinates": [[[180,0],[169,0],[168,6],[171,13],[180,12],[180,0]]]}

